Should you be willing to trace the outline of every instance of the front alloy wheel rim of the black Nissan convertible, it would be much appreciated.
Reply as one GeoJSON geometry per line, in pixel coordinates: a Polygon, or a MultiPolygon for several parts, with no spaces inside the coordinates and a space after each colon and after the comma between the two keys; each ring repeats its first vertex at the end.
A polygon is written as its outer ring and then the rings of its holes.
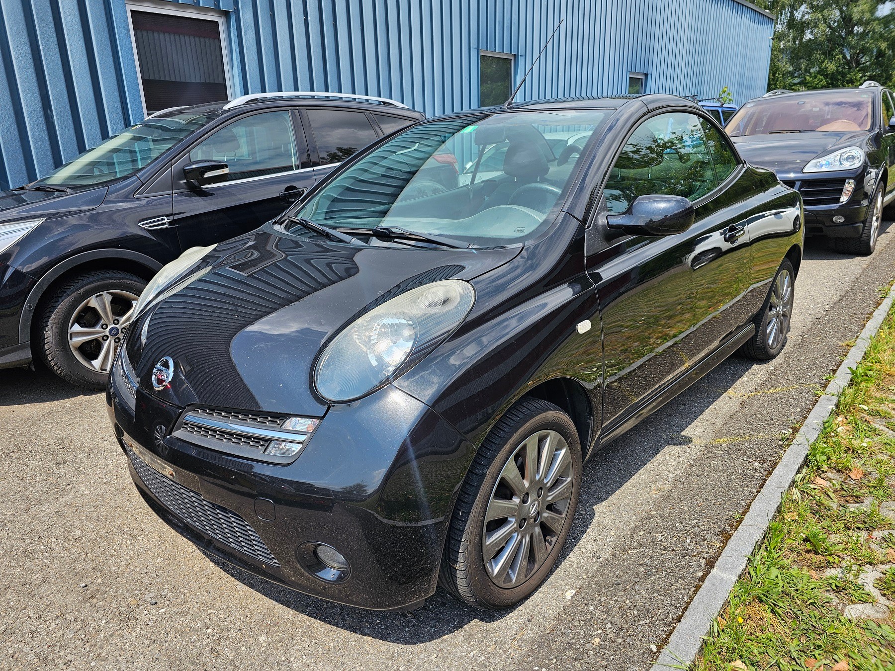
{"type": "Polygon", "coordinates": [[[482,559],[491,582],[513,588],[544,565],[567,523],[572,458],[557,431],[538,431],[507,459],[491,492],[482,559]]]}

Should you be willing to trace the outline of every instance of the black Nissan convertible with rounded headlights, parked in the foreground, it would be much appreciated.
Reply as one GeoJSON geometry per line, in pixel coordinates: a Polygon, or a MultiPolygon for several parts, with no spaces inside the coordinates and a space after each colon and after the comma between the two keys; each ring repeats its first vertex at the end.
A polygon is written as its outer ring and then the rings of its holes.
{"type": "Polygon", "coordinates": [[[422,122],[162,270],[115,435],[149,505],[253,573],[507,607],[555,564],[584,459],[732,352],[780,352],[801,217],[682,98],[422,122]]]}

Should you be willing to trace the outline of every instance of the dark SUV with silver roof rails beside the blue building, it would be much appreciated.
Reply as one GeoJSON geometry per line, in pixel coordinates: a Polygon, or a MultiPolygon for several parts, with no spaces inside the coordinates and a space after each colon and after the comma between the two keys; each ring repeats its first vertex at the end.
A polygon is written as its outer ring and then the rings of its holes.
{"type": "Polygon", "coordinates": [[[332,166],[422,118],[333,93],[176,107],[0,192],[0,368],[36,359],[105,386],[159,268],[276,217],[332,166]]]}

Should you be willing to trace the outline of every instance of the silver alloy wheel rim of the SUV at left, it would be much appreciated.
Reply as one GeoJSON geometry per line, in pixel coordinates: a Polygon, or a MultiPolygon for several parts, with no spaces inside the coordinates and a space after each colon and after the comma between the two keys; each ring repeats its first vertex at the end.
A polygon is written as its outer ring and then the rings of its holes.
{"type": "Polygon", "coordinates": [[[68,326],[68,344],[83,366],[107,373],[121,348],[137,295],[110,290],[82,302],[68,326]]]}

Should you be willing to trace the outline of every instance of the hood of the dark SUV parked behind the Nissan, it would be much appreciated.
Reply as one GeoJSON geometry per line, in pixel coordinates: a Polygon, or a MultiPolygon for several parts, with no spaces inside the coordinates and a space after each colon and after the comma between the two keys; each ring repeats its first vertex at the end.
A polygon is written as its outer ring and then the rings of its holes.
{"type": "Polygon", "coordinates": [[[781,132],[731,138],[753,166],[780,174],[801,173],[805,164],[833,149],[866,147],[866,132],[781,132]]]}

